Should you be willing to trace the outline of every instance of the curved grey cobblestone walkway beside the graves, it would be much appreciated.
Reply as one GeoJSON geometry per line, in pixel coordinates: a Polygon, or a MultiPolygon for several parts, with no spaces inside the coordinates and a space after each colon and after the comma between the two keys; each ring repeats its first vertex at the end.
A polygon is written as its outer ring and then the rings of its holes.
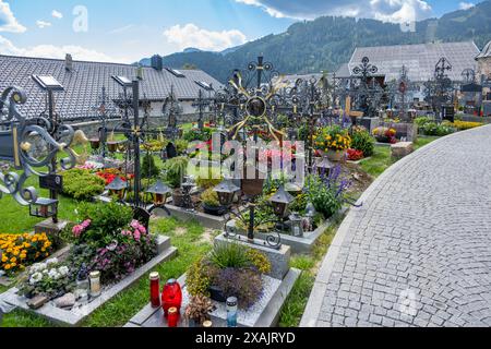
{"type": "Polygon", "coordinates": [[[491,326],[491,127],[423,147],[360,201],[302,326],[491,326]]]}

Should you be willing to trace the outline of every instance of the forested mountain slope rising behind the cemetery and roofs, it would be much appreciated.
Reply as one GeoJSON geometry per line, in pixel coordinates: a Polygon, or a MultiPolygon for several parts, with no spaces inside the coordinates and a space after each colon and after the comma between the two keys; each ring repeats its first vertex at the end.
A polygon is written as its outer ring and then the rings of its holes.
{"type": "Polygon", "coordinates": [[[491,40],[491,0],[439,20],[418,22],[415,33],[375,20],[323,16],[224,52],[173,53],[165,57],[164,63],[172,68],[193,64],[225,82],[235,68],[243,68],[262,52],[282,73],[311,73],[336,70],[356,47],[464,40],[475,40],[479,48],[491,40]]]}

